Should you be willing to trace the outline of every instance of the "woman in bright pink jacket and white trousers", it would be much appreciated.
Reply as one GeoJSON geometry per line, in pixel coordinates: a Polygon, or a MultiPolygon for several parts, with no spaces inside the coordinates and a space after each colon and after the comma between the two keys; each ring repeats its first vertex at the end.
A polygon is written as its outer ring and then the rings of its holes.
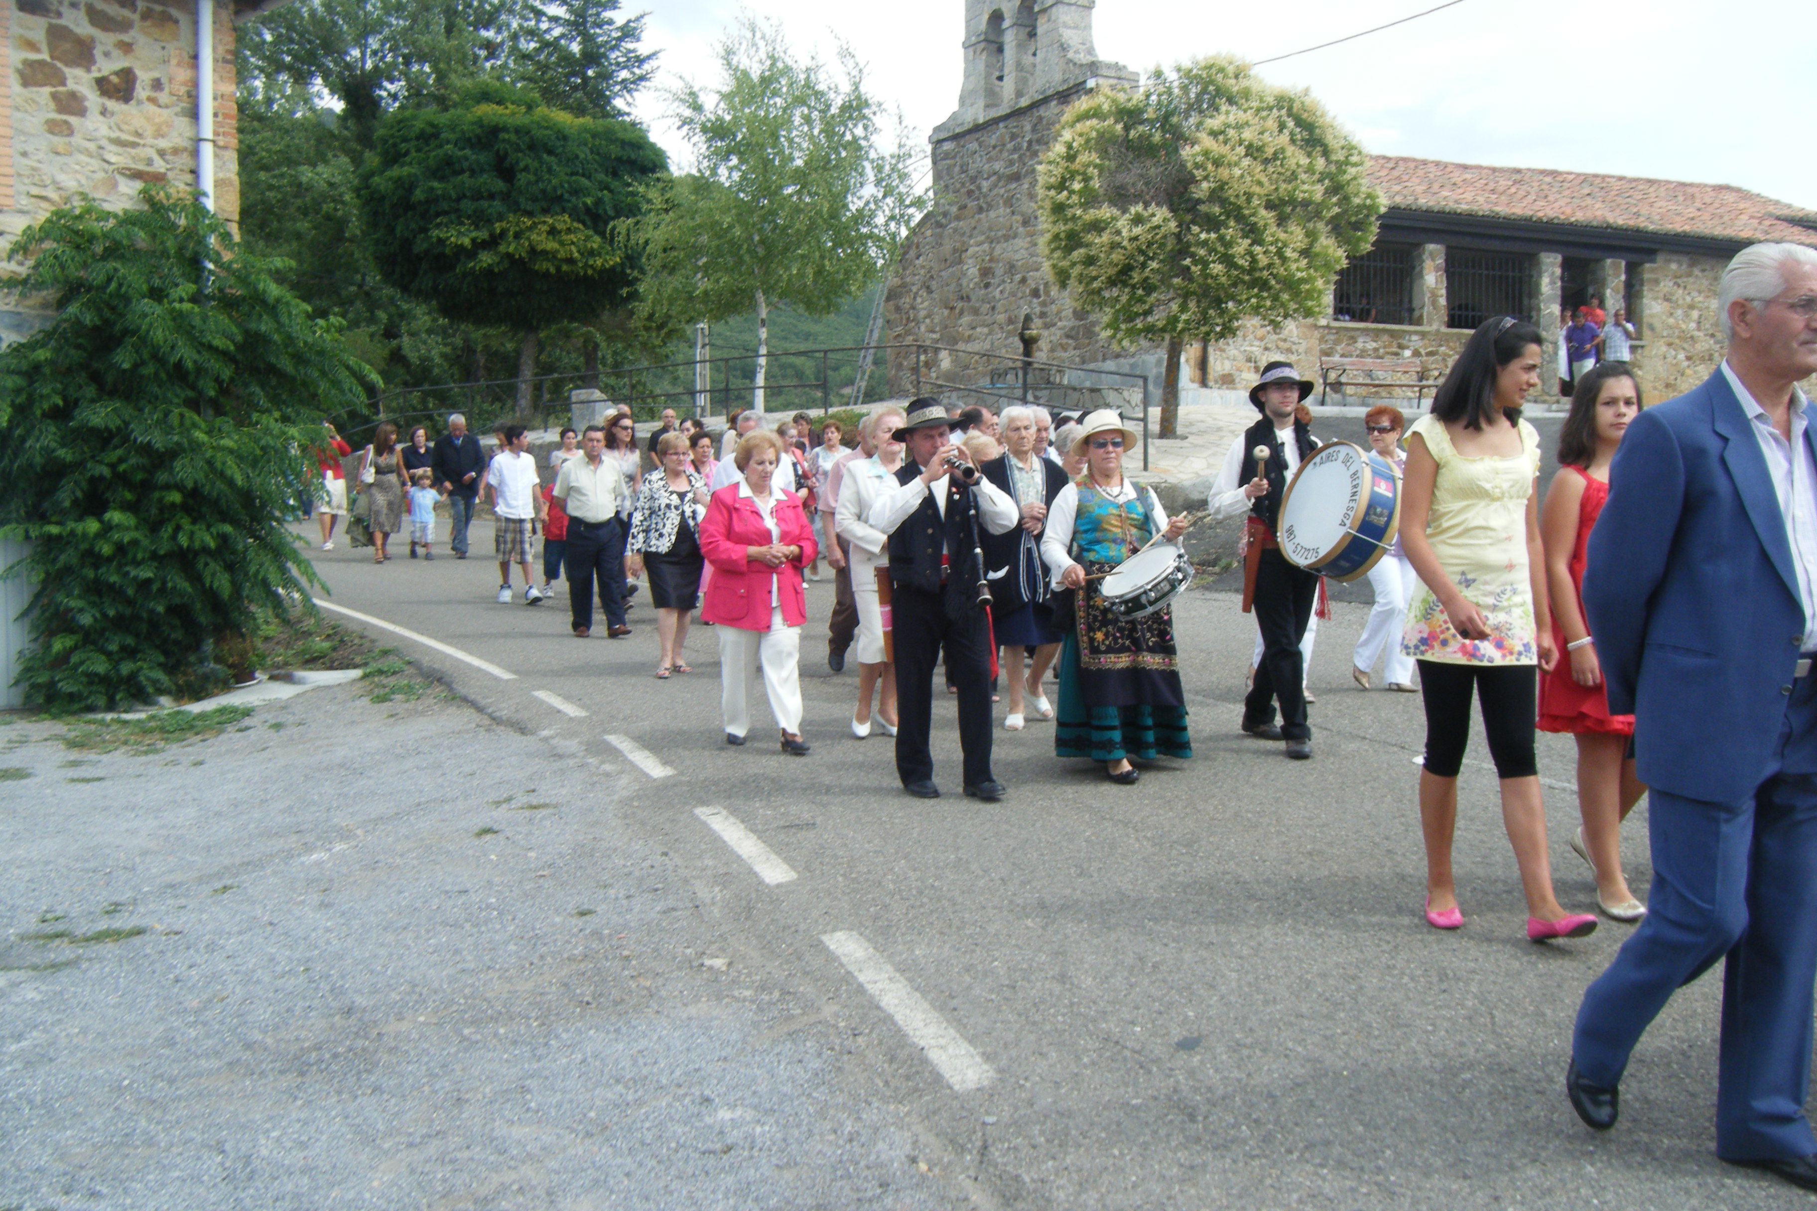
{"type": "Polygon", "coordinates": [[[801,497],[770,487],[781,458],[776,434],[756,430],[738,441],[732,465],[743,478],[712,494],[700,523],[700,550],[712,568],[700,615],[720,632],[725,743],[745,743],[761,666],[770,714],[783,730],[783,752],[805,757],[796,657],[807,621],[801,568],[814,563],[818,546],[801,497]]]}

